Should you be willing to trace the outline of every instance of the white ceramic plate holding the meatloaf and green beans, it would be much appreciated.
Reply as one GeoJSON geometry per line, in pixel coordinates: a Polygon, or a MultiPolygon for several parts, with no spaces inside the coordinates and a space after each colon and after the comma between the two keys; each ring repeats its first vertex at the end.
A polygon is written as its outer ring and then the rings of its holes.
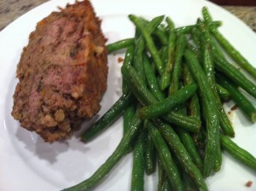
{"type": "MultiPolygon", "coordinates": [[[[15,91],[16,65],[28,35],[57,6],[64,7],[67,0],[50,1],[21,16],[0,33],[0,190],[60,190],[83,181],[96,171],[116,148],[122,136],[122,120],[119,119],[95,141],[84,144],[79,132],[66,142],[44,143],[36,134],[20,128],[10,112],[15,91]]],[[[102,18],[102,30],[112,43],[132,37],[134,26],[128,14],[153,17],[160,14],[171,16],[177,26],[194,24],[201,16],[204,5],[210,9],[215,20],[223,20],[221,32],[230,39],[247,59],[255,64],[256,36],[235,16],[218,6],[201,0],[93,0],[96,14],[102,18]]],[[[102,100],[100,115],[120,96],[120,64],[122,55],[109,59],[108,91],[102,100]]],[[[255,66],[255,65],[254,65],[255,66]]],[[[255,101],[253,104],[256,106],[255,101]]],[[[232,106],[228,104],[227,109],[232,106]]],[[[251,124],[240,110],[230,119],[236,130],[234,139],[242,148],[256,156],[256,125],[251,124]]],[[[95,120],[95,119],[94,119],[95,120]]],[[[92,122],[84,124],[90,125],[92,122]]],[[[211,190],[255,190],[255,172],[224,154],[224,164],[215,176],[207,178],[211,190]],[[252,181],[251,188],[246,188],[252,181]]],[[[156,175],[145,177],[145,189],[155,190],[156,175]]],[[[131,181],[131,154],[122,159],[97,190],[129,190],[131,181]]]]}

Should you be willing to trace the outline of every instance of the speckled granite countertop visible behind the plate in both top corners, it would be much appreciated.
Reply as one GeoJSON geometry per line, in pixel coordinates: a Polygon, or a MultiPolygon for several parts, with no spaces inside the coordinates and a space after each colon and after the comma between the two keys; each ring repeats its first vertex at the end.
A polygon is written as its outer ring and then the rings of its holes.
{"type": "MultiPolygon", "coordinates": [[[[0,0],[0,31],[13,20],[47,0],[0,0]]],[[[256,32],[256,7],[224,6],[256,32]]]]}

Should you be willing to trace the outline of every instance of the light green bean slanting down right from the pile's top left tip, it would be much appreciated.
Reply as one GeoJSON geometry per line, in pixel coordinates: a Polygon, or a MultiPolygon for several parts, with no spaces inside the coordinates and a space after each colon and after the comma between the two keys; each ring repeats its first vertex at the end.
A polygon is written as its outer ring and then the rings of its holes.
{"type": "Polygon", "coordinates": [[[157,70],[160,73],[160,75],[162,75],[164,72],[164,67],[163,67],[164,64],[163,64],[163,61],[160,59],[160,55],[158,54],[158,51],[154,45],[154,41],[151,38],[150,33],[148,32],[146,27],[143,26],[143,23],[141,22],[141,20],[139,20],[135,15],[129,14],[129,18],[137,26],[137,28],[142,32],[143,38],[145,39],[145,42],[148,45],[148,50],[154,59],[154,63],[157,67],[157,70]]]}

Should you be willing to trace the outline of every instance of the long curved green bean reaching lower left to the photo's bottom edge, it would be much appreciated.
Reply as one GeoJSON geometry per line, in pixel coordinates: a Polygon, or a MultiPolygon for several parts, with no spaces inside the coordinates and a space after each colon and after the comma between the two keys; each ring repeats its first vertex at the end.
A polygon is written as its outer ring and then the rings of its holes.
{"type": "Polygon", "coordinates": [[[106,177],[109,171],[112,170],[113,166],[118,163],[118,161],[126,154],[130,149],[131,142],[137,136],[142,124],[142,119],[139,119],[137,116],[133,119],[130,129],[125,133],[117,148],[113,153],[108,157],[105,163],[103,163],[98,170],[88,179],[80,182],[79,184],[71,187],[65,188],[63,191],[84,191],[95,188],[96,185],[106,177]]]}

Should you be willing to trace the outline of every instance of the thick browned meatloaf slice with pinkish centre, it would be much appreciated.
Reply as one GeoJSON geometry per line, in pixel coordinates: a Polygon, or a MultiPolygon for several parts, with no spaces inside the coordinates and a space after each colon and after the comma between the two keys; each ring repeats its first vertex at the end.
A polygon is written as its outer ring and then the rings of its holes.
{"type": "Polygon", "coordinates": [[[20,125],[54,142],[92,118],[107,89],[106,41],[88,0],[39,21],[16,72],[12,115],[20,125]]]}

